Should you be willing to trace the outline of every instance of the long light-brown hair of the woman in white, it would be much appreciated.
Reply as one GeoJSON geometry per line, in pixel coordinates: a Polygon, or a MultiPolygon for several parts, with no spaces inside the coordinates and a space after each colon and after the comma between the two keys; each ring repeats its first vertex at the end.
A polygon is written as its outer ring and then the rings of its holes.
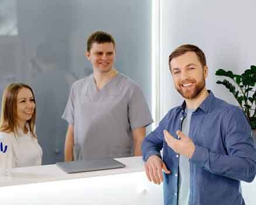
{"type": "MultiPolygon", "coordinates": [[[[31,87],[23,83],[12,83],[5,87],[3,96],[2,96],[2,110],[1,110],[1,119],[0,119],[0,131],[14,133],[15,136],[18,136],[18,122],[16,121],[17,117],[17,96],[19,90],[22,88],[29,89],[33,95],[34,93],[31,87]]],[[[34,104],[36,105],[36,100],[34,99],[34,104]]],[[[36,137],[34,133],[34,124],[36,121],[36,106],[34,107],[34,112],[32,118],[27,121],[29,125],[30,132],[33,137],[36,137]]]]}

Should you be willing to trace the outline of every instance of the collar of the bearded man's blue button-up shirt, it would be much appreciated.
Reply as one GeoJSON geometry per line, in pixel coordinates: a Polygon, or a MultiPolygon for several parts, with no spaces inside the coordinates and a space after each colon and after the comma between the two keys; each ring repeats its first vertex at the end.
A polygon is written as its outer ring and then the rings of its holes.
{"type": "MultiPolygon", "coordinates": [[[[210,112],[214,107],[215,102],[215,95],[212,91],[207,90],[209,95],[205,98],[205,100],[199,105],[199,107],[196,109],[202,109],[203,112],[207,113],[210,112]]],[[[184,100],[180,106],[180,109],[185,112],[186,109],[186,101],[184,100]]]]}

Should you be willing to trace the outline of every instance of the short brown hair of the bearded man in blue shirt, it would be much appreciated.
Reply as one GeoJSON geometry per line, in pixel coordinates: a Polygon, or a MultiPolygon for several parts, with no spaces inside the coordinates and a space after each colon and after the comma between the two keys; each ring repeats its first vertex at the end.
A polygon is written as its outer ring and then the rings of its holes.
{"type": "Polygon", "coordinates": [[[196,56],[198,56],[198,60],[201,63],[201,65],[202,66],[206,66],[205,54],[203,53],[202,50],[200,50],[200,48],[198,48],[196,45],[192,45],[192,44],[184,44],[184,45],[181,45],[178,48],[176,48],[171,53],[171,55],[169,55],[169,63],[171,62],[171,60],[173,58],[176,58],[176,57],[178,57],[180,55],[183,55],[183,54],[185,54],[185,52],[189,52],[189,51],[195,52],[196,56]]]}

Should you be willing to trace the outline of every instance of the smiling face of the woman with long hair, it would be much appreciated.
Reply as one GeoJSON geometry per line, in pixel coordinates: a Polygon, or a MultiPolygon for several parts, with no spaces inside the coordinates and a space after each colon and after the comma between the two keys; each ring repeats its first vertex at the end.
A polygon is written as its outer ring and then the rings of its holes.
{"type": "Polygon", "coordinates": [[[17,118],[20,122],[29,121],[32,118],[34,108],[36,104],[34,103],[34,97],[32,92],[23,87],[19,90],[17,95],[17,118]]]}

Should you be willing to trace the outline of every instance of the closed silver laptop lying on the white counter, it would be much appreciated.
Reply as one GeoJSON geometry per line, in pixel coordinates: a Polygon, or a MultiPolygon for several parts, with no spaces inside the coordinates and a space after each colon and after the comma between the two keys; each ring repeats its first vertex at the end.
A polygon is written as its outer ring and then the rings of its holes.
{"type": "Polygon", "coordinates": [[[57,162],[56,165],[68,174],[125,167],[125,164],[112,158],[57,162]]]}

